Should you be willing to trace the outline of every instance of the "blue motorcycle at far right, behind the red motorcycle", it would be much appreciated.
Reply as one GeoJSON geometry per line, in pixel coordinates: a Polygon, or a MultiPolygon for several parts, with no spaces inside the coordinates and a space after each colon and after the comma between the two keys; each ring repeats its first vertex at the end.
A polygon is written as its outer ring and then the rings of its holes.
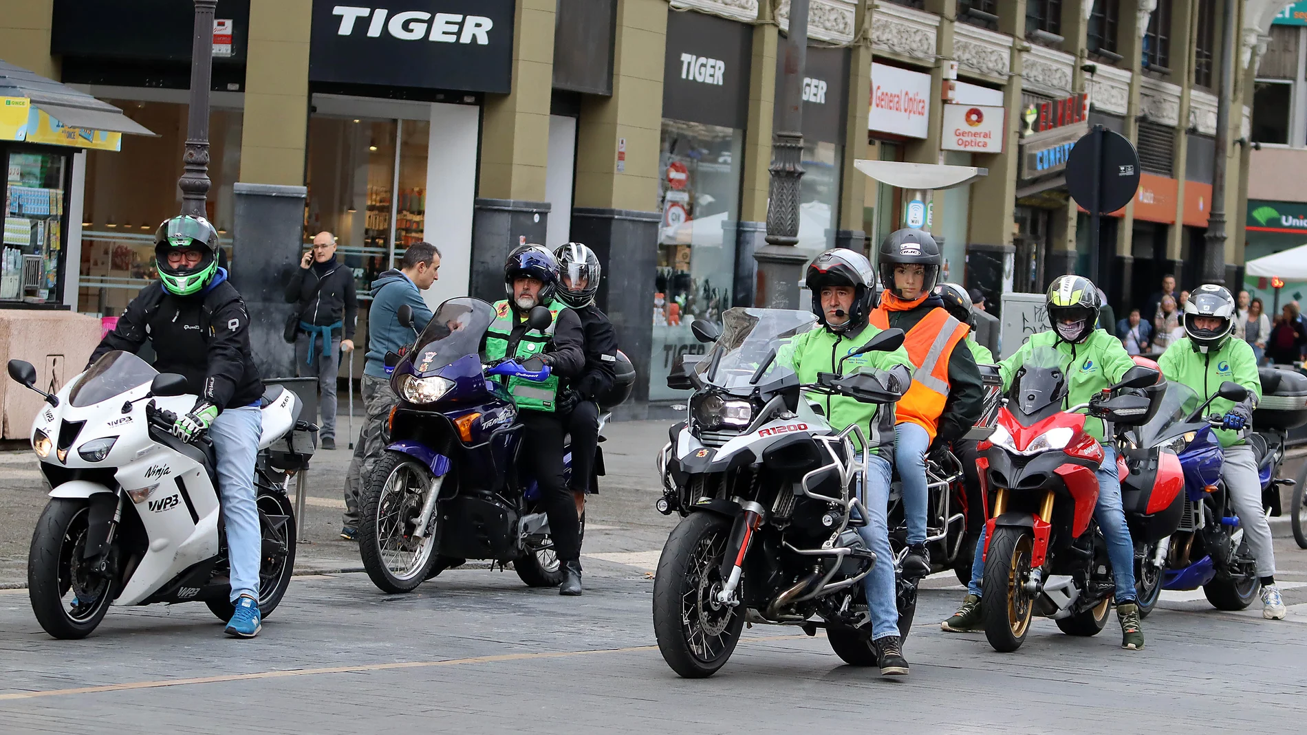
{"type": "MultiPolygon", "coordinates": [[[[1238,402],[1247,397],[1247,389],[1226,381],[1216,397],[1238,402]]],[[[1221,479],[1223,453],[1214,430],[1222,416],[1202,416],[1210,402],[1188,385],[1171,381],[1153,420],[1128,437],[1136,448],[1175,453],[1184,474],[1183,500],[1166,510],[1179,510],[1179,527],[1161,539],[1131,527],[1141,615],[1153,611],[1162,590],[1202,587],[1217,610],[1243,610],[1257,595],[1256,563],[1221,479]]],[[[1131,478],[1141,470],[1148,467],[1132,465],[1127,475],[1127,505],[1131,478]]]]}

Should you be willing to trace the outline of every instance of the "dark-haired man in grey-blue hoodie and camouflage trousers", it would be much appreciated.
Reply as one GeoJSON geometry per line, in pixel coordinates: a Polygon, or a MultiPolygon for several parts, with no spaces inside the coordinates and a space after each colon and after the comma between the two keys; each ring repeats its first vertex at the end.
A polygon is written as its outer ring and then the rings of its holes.
{"type": "Polygon", "coordinates": [[[440,251],[431,243],[413,243],[400,260],[399,270],[391,269],[372,281],[372,305],[367,309],[367,363],[359,381],[367,418],[354,443],[354,458],[345,475],[345,514],[340,538],[354,540],[358,527],[358,499],[376,460],[386,449],[386,420],[396,403],[391,376],[386,373],[386,352],[399,352],[413,343],[413,330],[400,325],[397,312],[408,304],[413,309],[413,326],[420,332],[431,320],[431,309],[422,300],[422,291],[431,287],[440,269],[440,251]]]}

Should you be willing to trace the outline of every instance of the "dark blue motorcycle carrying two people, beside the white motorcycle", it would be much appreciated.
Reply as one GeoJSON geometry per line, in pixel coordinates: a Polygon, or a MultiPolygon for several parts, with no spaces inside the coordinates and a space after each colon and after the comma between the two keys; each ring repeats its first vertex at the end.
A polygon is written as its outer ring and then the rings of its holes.
{"type": "MultiPolygon", "coordinates": [[[[410,326],[405,309],[400,322],[410,326]]],[[[365,478],[358,525],[363,568],[383,591],[410,591],[468,559],[511,561],[529,586],[562,582],[540,490],[518,470],[523,427],[505,386],[512,377],[542,381],[549,367],[538,358],[484,363],[480,352],[494,317],[482,300],[450,299],[405,355],[387,355],[399,402],[386,453],[365,478]]],[[[528,316],[533,329],[549,322],[541,307],[528,316]]],[[[625,355],[618,359],[620,368],[630,368],[625,355]]],[[[634,371],[626,372],[629,393],[634,371]]],[[[570,475],[571,452],[563,462],[570,475]]],[[[603,467],[599,454],[595,475],[603,467]]],[[[596,482],[591,478],[592,487],[596,482]]]]}

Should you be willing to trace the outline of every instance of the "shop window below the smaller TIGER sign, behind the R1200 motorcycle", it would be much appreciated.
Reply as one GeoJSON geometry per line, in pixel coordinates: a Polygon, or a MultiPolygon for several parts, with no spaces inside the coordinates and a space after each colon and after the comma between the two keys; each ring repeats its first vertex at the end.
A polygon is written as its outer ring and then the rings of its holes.
{"type": "Polygon", "coordinates": [[[686,352],[702,352],[690,332],[698,319],[720,321],[735,283],[735,223],[740,211],[744,131],[663,120],[654,352],[650,398],[676,398],[667,373],[686,352]]]}

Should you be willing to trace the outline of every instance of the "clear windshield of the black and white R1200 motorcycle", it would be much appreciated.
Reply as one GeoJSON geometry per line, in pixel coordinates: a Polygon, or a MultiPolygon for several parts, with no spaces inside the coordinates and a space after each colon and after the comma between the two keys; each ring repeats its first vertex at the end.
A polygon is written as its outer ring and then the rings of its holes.
{"type": "Polygon", "coordinates": [[[817,325],[812,312],[791,309],[755,309],[736,307],[721,315],[721,337],[708,354],[694,366],[703,381],[719,388],[748,388],[763,363],[770,379],[792,373],[786,364],[778,364],[775,352],[796,334],[817,325]],[[779,371],[779,372],[778,372],[779,371]]]}

